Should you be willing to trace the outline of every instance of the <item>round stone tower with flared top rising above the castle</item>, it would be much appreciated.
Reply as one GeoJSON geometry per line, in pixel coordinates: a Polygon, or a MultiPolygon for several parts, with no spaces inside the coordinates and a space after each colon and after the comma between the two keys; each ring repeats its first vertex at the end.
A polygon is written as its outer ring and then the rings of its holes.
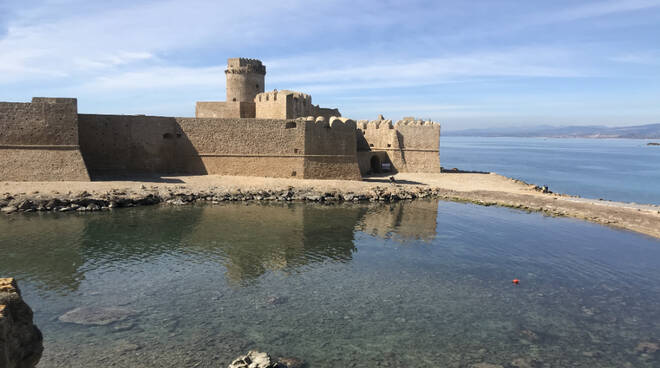
{"type": "Polygon", "coordinates": [[[254,102],[264,91],[266,67],[257,59],[227,59],[227,102],[254,102]]]}

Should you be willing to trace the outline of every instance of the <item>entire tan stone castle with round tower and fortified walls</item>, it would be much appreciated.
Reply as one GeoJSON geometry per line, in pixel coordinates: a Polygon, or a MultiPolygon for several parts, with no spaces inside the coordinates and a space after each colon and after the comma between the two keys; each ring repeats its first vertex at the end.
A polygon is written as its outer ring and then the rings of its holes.
{"type": "Polygon", "coordinates": [[[294,91],[265,92],[259,60],[229,59],[227,101],[194,118],[79,114],[74,98],[0,102],[0,180],[88,181],[143,175],[360,180],[440,172],[440,125],[353,121],[294,91]]]}

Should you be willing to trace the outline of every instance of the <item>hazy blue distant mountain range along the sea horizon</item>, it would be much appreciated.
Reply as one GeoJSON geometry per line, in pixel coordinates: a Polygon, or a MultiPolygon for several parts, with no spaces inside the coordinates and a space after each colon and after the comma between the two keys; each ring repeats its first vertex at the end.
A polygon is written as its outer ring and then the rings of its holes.
{"type": "Polygon", "coordinates": [[[548,126],[465,129],[442,132],[444,136],[471,137],[548,137],[548,138],[637,138],[660,139],[660,124],[627,127],[548,126]]]}

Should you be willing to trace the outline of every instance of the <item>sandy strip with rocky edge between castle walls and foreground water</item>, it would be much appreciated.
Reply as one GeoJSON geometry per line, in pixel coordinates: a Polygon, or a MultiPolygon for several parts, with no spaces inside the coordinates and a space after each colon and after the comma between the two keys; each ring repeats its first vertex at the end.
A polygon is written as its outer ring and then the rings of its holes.
{"type": "Polygon", "coordinates": [[[407,173],[397,174],[395,179],[391,183],[387,176],[343,181],[209,175],[93,182],[0,182],[0,208],[11,215],[201,200],[335,202],[433,197],[574,217],[660,238],[660,206],[543,193],[535,185],[494,173],[407,173]]]}

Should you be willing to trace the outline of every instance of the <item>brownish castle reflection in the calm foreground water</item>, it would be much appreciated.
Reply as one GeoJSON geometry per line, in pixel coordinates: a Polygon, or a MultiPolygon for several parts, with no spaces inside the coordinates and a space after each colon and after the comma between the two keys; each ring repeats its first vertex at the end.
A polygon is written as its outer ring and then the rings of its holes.
{"type": "Polygon", "coordinates": [[[0,258],[0,269],[66,293],[89,272],[188,254],[217,262],[230,283],[244,284],[267,271],[350,262],[358,233],[402,244],[430,242],[437,209],[437,201],[227,203],[14,216],[0,221],[0,244],[9,255],[0,258]],[[31,234],[30,244],[12,244],[25,234],[31,234]]]}

